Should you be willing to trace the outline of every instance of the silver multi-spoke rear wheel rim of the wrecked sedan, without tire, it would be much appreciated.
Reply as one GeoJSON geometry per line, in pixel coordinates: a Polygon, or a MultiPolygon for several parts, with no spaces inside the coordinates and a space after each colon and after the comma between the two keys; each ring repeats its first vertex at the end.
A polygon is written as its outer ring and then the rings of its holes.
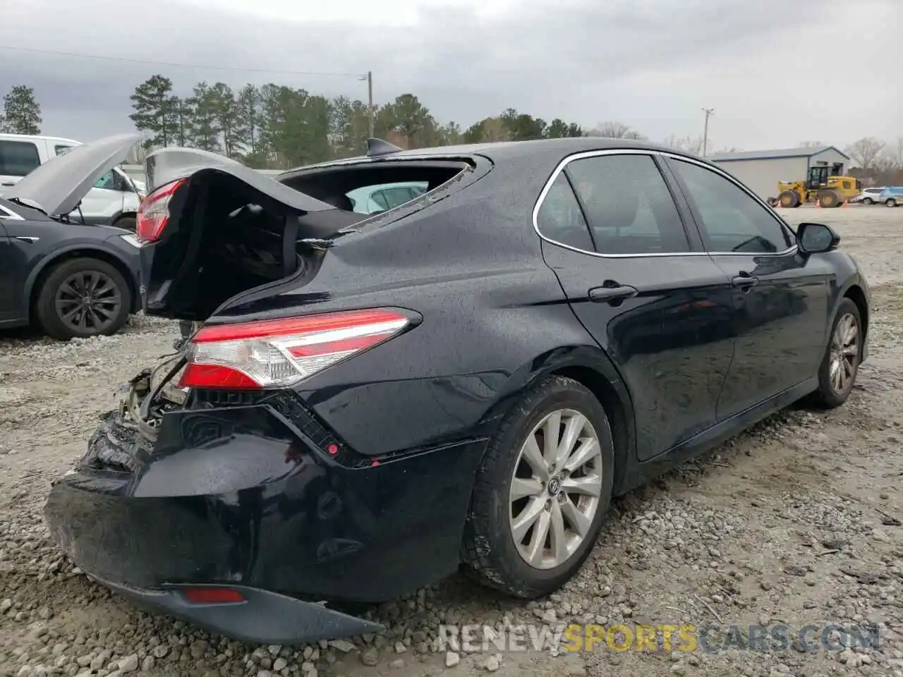
{"type": "Polygon", "coordinates": [[[509,488],[509,525],[521,558],[535,569],[561,566],[590,533],[600,504],[602,454],[589,419],[549,413],[521,446],[509,488]]]}

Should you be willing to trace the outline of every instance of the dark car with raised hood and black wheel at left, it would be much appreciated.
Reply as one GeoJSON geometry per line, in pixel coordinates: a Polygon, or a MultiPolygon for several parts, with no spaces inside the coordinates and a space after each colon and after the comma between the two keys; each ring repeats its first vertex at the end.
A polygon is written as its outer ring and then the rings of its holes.
{"type": "Polygon", "coordinates": [[[0,328],[52,338],[114,334],[141,310],[139,243],[129,231],[81,223],[91,186],[122,162],[138,134],[79,145],[0,196],[0,328]]]}

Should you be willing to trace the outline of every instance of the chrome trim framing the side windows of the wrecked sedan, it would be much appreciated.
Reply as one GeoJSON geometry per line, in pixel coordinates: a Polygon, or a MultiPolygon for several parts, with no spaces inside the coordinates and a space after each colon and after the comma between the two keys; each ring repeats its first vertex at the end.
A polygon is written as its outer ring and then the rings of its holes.
{"type": "MultiPolygon", "coordinates": [[[[739,181],[737,181],[736,179],[731,177],[731,175],[728,174],[727,172],[721,171],[721,169],[712,168],[705,162],[699,162],[697,160],[694,160],[694,158],[686,157],[685,155],[678,155],[676,153],[663,153],[661,151],[646,150],[643,148],[606,148],[604,150],[599,150],[599,151],[583,151],[582,153],[573,153],[573,155],[568,155],[561,162],[558,162],[558,164],[555,166],[554,171],[552,172],[552,175],[548,178],[547,181],[545,181],[543,190],[540,191],[539,198],[536,199],[536,204],[533,208],[533,229],[535,230],[536,235],[539,236],[539,238],[541,240],[545,240],[545,242],[548,242],[550,245],[561,246],[564,249],[570,249],[571,251],[577,252],[579,254],[596,256],[597,258],[651,258],[651,257],[657,257],[657,256],[713,256],[713,255],[717,255],[717,256],[749,256],[749,255],[783,256],[783,255],[790,254],[791,252],[796,252],[797,246],[794,245],[794,246],[789,247],[788,249],[785,249],[782,252],[762,252],[762,253],[759,253],[759,252],[703,251],[703,252],[655,252],[655,253],[651,253],[651,254],[600,254],[599,252],[590,252],[585,249],[581,249],[580,247],[565,245],[563,242],[558,242],[557,240],[554,240],[551,237],[547,237],[547,236],[543,235],[543,233],[539,229],[539,209],[542,208],[543,202],[545,202],[545,196],[548,194],[549,190],[552,190],[552,184],[555,182],[555,180],[558,179],[558,176],[561,174],[561,172],[564,171],[564,168],[567,167],[568,164],[570,164],[571,162],[574,162],[576,160],[585,160],[587,158],[600,157],[600,156],[604,156],[604,155],[647,155],[650,158],[653,158],[653,160],[656,158],[656,156],[673,157],[673,158],[675,158],[675,160],[684,160],[684,161],[690,162],[692,164],[698,164],[699,166],[703,167],[703,169],[710,170],[711,172],[719,174],[724,179],[731,181],[731,183],[733,183],[734,185],[739,187],[740,190],[743,190],[743,192],[745,192],[747,195],[749,195],[752,199],[754,199],[756,202],[758,202],[761,206],[765,207],[766,211],[768,213],[770,213],[771,216],[773,218],[775,218],[775,220],[777,220],[777,223],[781,227],[782,230],[789,230],[789,228],[787,228],[787,224],[785,224],[779,217],[777,217],[777,214],[771,213],[768,206],[765,204],[765,202],[762,199],[759,199],[758,195],[751,192],[748,188],[743,186],[739,181]]],[[[656,167],[656,169],[657,169],[657,167],[656,167]]],[[[662,176],[662,181],[666,181],[666,178],[664,175],[662,176]]],[[[675,209],[677,209],[676,204],[675,204],[675,209]]],[[[587,224],[587,227],[589,227],[589,224],[587,224]]],[[[794,239],[796,238],[796,236],[794,236],[792,232],[790,233],[790,235],[794,239]]],[[[703,243],[703,246],[704,246],[704,243],[703,243]]]]}

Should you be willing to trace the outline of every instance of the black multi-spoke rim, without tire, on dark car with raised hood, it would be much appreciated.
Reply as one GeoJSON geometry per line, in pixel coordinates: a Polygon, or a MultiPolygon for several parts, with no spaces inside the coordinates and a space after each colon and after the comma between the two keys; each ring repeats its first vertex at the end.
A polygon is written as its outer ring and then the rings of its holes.
{"type": "Polygon", "coordinates": [[[122,292],[107,274],[83,270],[59,286],[54,305],[60,320],[79,334],[99,334],[116,320],[122,292]]]}

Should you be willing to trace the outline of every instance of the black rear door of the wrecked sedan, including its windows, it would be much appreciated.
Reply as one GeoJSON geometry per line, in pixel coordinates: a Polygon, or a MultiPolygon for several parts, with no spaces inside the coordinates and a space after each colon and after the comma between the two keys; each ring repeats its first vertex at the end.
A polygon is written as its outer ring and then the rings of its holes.
{"type": "Polygon", "coordinates": [[[734,344],[727,275],[660,163],[645,151],[573,155],[535,209],[546,263],[628,387],[640,459],[715,423],[734,344]]]}

